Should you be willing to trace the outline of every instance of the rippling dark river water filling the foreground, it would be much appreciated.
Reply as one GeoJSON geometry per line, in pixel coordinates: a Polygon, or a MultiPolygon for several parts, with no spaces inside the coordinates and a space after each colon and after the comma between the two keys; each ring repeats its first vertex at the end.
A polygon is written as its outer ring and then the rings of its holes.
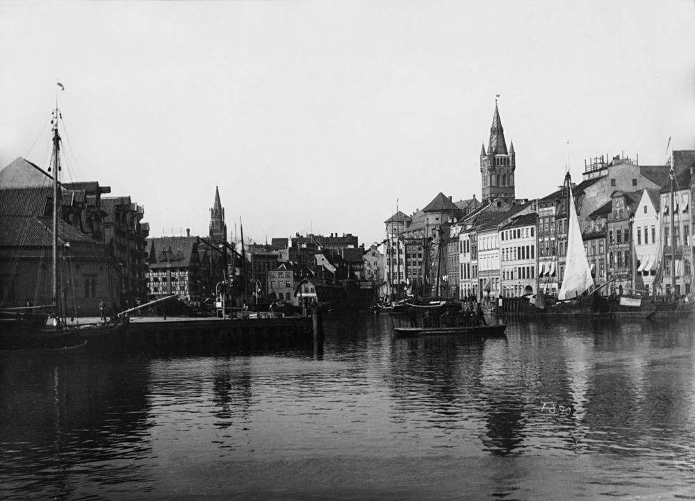
{"type": "Polygon", "coordinates": [[[0,499],[695,499],[692,319],[0,359],[0,499]]]}

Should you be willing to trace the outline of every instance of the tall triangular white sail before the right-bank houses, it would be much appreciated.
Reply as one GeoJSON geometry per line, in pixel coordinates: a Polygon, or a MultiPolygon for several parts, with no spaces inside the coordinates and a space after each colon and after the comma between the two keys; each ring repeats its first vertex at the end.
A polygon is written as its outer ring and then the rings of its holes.
{"type": "Polygon", "coordinates": [[[562,287],[557,295],[557,299],[560,301],[581,295],[594,285],[594,279],[591,278],[589,260],[587,259],[587,251],[584,249],[584,240],[582,240],[582,229],[579,227],[577,209],[574,206],[571,183],[569,186],[569,218],[567,224],[567,260],[562,287]]]}

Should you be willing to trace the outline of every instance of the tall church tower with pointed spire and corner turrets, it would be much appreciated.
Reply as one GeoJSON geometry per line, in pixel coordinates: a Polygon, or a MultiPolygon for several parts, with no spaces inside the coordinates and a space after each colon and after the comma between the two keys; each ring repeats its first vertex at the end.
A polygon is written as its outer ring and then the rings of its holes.
{"type": "Polygon", "coordinates": [[[505,141],[505,129],[500,120],[500,110],[495,99],[495,114],[492,117],[490,127],[490,141],[482,145],[480,151],[480,174],[482,177],[482,201],[501,198],[507,204],[512,205],[516,199],[514,190],[514,171],[516,170],[516,155],[514,154],[514,142],[507,151],[505,141]]]}

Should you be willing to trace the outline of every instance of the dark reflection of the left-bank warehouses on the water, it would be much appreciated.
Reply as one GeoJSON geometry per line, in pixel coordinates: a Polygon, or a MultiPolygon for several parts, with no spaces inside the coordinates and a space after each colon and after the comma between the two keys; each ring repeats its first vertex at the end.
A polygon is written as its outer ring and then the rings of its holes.
{"type": "Polygon", "coordinates": [[[133,462],[151,449],[145,371],[84,355],[0,365],[0,469],[13,479],[0,494],[67,498],[85,477],[92,493],[113,482],[147,490],[147,470],[133,462]]]}

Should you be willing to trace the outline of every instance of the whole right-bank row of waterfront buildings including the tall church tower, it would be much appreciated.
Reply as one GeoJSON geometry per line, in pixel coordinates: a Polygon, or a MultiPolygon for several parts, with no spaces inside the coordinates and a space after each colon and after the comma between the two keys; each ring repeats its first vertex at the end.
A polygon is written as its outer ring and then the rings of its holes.
{"type": "MultiPolygon", "coordinates": [[[[673,151],[667,165],[639,165],[622,155],[585,161],[573,203],[597,287],[692,293],[694,170],[695,151],[673,151]]],[[[566,266],[569,189],[517,199],[515,172],[516,152],[513,144],[507,149],[496,103],[480,151],[482,202],[454,203],[440,193],[423,211],[397,211],[386,220],[391,297],[408,289],[479,299],[539,288],[557,293],[566,266]]]]}

